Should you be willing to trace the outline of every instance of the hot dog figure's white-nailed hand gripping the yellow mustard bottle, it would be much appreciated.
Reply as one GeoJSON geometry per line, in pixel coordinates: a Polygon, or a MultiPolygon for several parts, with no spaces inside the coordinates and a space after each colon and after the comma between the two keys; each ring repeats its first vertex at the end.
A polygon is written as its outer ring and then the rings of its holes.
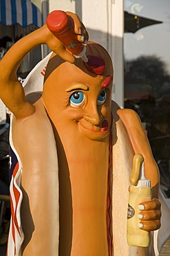
{"type": "Polygon", "coordinates": [[[140,210],[138,214],[138,219],[140,219],[139,228],[146,231],[160,228],[161,211],[158,199],[142,202],[138,208],[140,210]]]}

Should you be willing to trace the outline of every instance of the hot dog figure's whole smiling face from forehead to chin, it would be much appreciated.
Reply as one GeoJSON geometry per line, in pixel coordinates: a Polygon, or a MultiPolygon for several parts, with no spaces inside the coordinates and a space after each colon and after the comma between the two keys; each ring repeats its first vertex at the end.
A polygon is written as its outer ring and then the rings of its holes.
{"type": "MultiPolygon", "coordinates": [[[[54,56],[58,57],[58,56],[54,56]]],[[[96,74],[61,62],[45,80],[43,100],[57,131],[90,140],[103,140],[111,125],[112,74],[96,74]]]]}

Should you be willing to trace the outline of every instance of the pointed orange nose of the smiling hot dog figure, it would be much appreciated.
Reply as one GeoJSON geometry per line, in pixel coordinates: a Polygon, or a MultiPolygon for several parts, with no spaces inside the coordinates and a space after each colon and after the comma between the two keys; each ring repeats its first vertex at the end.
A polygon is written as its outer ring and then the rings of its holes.
{"type": "Polygon", "coordinates": [[[100,113],[100,111],[98,111],[97,107],[95,107],[95,108],[89,110],[87,113],[85,113],[83,118],[87,122],[91,122],[92,125],[99,125],[103,116],[102,116],[102,113],[100,113]]]}

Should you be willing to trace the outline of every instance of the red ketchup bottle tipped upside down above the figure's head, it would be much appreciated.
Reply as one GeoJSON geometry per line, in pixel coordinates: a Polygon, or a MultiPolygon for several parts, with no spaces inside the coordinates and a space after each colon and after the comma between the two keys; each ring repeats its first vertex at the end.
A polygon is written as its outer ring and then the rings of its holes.
{"type": "Polygon", "coordinates": [[[74,55],[83,51],[83,44],[78,42],[72,24],[67,13],[62,10],[54,10],[47,16],[47,28],[58,38],[74,55]]]}

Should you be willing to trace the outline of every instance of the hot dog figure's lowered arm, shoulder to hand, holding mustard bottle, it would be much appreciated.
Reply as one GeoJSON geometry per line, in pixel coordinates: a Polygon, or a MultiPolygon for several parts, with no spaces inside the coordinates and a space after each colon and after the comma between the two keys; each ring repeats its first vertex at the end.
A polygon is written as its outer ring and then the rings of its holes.
{"type": "Polygon", "coordinates": [[[136,112],[131,109],[119,109],[118,116],[120,116],[127,129],[134,153],[142,154],[144,157],[145,174],[147,179],[151,180],[153,199],[140,203],[140,228],[146,231],[157,230],[160,228],[161,217],[160,201],[158,200],[158,166],[153,158],[149,141],[136,112]]]}

